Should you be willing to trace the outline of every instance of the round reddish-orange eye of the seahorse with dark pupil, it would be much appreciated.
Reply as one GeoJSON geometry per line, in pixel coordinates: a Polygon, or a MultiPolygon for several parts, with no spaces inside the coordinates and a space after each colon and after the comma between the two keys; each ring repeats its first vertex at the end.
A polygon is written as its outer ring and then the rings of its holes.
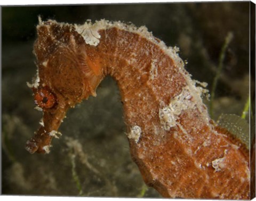
{"type": "Polygon", "coordinates": [[[50,91],[49,87],[37,89],[35,91],[34,99],[37,106],[43,109],[52,108],[56,102],[55,96],[50,91]]]}

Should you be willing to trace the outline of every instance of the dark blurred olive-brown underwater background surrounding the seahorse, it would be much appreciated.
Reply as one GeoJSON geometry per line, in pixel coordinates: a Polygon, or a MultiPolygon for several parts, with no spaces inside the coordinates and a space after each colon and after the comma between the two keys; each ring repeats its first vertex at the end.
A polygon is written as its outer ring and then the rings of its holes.
{"type": "Polygon", "coordinates": [[[53,140],[50,154],[25,150],[42,117],[26,85],[36,73],[39,15],[68,23],[107,19],[145,25],[167,46],[180,48],[185,68],[209,90],[231,32],[213,101],[217,120],[222,113],[241,116],[249,96],[249,14],[250,2],[3,6],[2,194],[161,197],[145,186],[131,160],[121,98],[110,77],[98,87],[97,98],[68,111],[60,127],[63,135],[53,140]]]}

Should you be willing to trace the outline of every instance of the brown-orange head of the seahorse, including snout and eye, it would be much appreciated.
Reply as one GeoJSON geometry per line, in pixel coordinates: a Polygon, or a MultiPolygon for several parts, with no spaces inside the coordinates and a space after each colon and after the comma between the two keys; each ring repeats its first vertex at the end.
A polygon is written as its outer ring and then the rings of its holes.
{"type": "Polygon", "coordinates": [[[36,108],[43,111],[43,118],[35,136],[27,141],[26,149],[31,154],[49,152],[51,139],[58,133],[67,109],[90,94],[81,69],[79,40],[72,26],[39,21],[34,44],[38,69],[28,86],[33,90],[36,108]]]}

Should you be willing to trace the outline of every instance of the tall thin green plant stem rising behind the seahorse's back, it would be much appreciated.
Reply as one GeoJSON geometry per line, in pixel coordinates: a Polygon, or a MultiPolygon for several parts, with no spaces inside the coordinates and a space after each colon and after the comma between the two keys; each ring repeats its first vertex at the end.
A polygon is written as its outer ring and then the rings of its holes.
{"type": "Polygon", "coordinates": [[[220,77],[220,74],[222,71],[223,61],[225,59],[225,52],[226,52],[227,47],[232,39],[233,39],[233,33],[229,32],[225,38],[225,43],[223,44],[223,46],[221,48],[220,55],[219,55],[219,65],[217,68],[217,73],[213,79],[212,90],[211,90],[211,99],[210,99],[210,116],[211,116],[211,118],[213,118],[213,100],[215,97],[215,90],[217,87],[217,83],[218,83],[218,80],[219,80],[219,77],[220,77]]]}

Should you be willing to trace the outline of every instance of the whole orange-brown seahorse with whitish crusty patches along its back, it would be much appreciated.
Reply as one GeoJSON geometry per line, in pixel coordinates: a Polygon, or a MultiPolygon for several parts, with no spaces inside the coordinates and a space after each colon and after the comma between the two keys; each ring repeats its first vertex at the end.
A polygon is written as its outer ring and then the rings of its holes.
{"type": "Polygon", "coordinates": [[[110,75],[121,93],[132,159],[148,186],[163,197],[249,199],[249,150],[209,117],[205,83],[191,78],[177,51],[145,26],[39,18],[38,71],[28,85],[43,119],[26,149],[49,153],[67,110],[95,97],[110,75]]]}

